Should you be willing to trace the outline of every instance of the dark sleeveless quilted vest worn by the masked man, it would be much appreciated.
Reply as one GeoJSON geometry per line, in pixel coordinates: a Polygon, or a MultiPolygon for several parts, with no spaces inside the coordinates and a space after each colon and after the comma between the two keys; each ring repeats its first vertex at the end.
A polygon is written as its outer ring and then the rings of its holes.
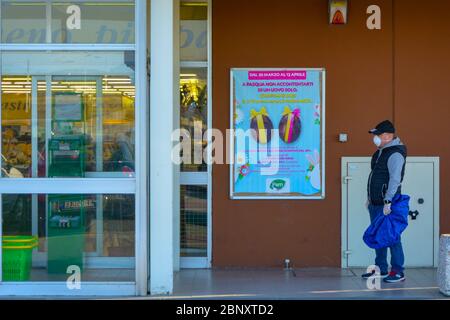
{"type": "MultiPolygon", "coordinates": [[[[389,185],[389,170],[388,170],[388,160],[389,157],[399,152],[403,158],[405,158],[405,163],[403,164],[402,168],[402,178],[401,181],[403,181],[403,177],[405,175],[405,165],[406,165],[406,157],[407,157],[407,150],[406,146],[399,145],[399,146],[392,146],[383,149],[381,152],[380,158],[378,158],[378,155],[380,154],[380,150],[377,150],[374,155],[372,156],[372,162],[371,162],[371,168],[372,172],[369,176],[369,181],[367,183],[367,195],[369,197],[370,202],[373,205],[383,205],[384,204],[384,196],[386,195],[386,191],[389,185]],[[378,160],[377,160],[378,159],[378,160]]],[[[397,194],[401,193],[401,187],[399,186],[397,190],[397,194]]]]}

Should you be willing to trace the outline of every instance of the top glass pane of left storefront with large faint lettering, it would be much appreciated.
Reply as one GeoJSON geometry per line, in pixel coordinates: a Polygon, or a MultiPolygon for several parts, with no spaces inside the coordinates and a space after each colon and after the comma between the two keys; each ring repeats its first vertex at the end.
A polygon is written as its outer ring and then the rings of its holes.
{"type": "Polygon", "coordinates": [[[3,43],[135,43],[132,0],[1,2],[3,43]]]}

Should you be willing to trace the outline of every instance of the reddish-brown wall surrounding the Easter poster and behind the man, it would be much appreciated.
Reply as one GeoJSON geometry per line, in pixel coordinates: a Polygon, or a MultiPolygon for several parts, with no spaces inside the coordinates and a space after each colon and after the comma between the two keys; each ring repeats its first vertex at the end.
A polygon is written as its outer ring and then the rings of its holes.
{"type": "MultiPolygon", "coordinates": [[[[414,11],[419,8],[419,1],[417,4],[410,0],[395,2],[393,6],[391,0],[350,1],[349,23],[330,26],[326,0],[213,1],[214,128],[224,131],[230,126],[230,68],[324,67],[327,70],[326,199],[232,201],[228,196],[229,167],[215,165],[213,266],[280,266],[286,257],[297,267],[340,266],[340,159],[371,155],[374,146],[367,130],[385,118],[395,118],[398,133],[410,147],[411,155],[442,157],[441,228],[450,232],[450,203],[443,192],[450,187],[444,181],[449,177],[448,141],[444,139],[449,135],[444,123],[444,115],[448,119],[449,99],[445,98],[450,95],[450,89],[444,87],[448,87],[450,73],[440,71],[444,65],[446,71],[450,68],[450,62],[444,59],[450,56],[450,49],[448,43],[439,41],[439,33],[442,37],[444,28],[450,30],[450,20],[445,21],[450,5],[442,0],[421,2],[421,7],[431,6],[427,8],[428,14],[442,13],[441,19],[430,19],[431,25],[426,28],[441,30],[431,39],[421,25],[413,28],[419,30],[423,43],[431,45],[434,51],[447,50],[436,59],[434,53],[424,53],[426,47],[416,47],[414,32],[408,29],[411,17],[403,9],[408,7],[414,11]],[[366,9],[371,4],[378,4],[382,9],[380,31],[366,28],[366,9]],[[428,70],[430,60],[435,70],[428,70]],[[422,78],[422,83],[411,79],[415,73],[430,76],[422,78]],[[441,83],[435,83],[434,76],[441,83]],[[435,102],[433,107],[438,113],[424,117],[419,110],[423,103],[431,101],[435,102]],[[420,119],[426,121],[417,126],[420,119]],[[427,127],[430,134],[440,137],[439,141],[426,142],[418,127],[427,127]],[[338,142],[341,132],[349,134],[348,143],[338,142]]],[[[448,35],[447,32],[446,39],[448,35]]]]}

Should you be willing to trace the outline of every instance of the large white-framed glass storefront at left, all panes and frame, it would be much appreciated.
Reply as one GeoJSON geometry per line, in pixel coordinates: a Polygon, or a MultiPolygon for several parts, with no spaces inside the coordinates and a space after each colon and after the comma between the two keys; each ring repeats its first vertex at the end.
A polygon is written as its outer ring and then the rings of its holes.
{"type": "Polygon", "coordinates": [[[0,296],[145,295],[147,2],[0,6],[0,296]]]}

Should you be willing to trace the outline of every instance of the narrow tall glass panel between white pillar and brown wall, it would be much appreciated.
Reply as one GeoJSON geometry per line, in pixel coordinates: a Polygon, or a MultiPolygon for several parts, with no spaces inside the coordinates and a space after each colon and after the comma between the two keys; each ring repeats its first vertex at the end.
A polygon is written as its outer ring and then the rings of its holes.
{"type": "Polygon", "coordinates": [[[208,1],[181,2],[180,15],[180,128],[192,141],[190,162],[181,165],[180,176],[181,268],[209,268],[211,167],[202,157],[211,126],[208,1]]]}

